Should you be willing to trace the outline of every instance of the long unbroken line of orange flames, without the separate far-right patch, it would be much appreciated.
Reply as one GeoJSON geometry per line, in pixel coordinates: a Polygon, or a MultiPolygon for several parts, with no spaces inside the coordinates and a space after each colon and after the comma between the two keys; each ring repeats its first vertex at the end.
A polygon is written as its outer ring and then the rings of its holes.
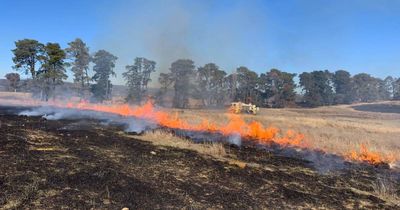
{"type": "Polygon", "coordinates": [[[281,134],[280,130],[275,127],[264,127],[261,123],[253,121],[246,123],[239,115],[228,114],[229,121],[226,124],[216,124],[203,119],[199,124],[191,124],[179,118],[179,116],[171,115],[167,112],[154,109],[151,102],[147,102],[140,107],[130,107],[123,105],[99,105],[87,102],[72,103],[69,102],[65,106],[62,103],[50,102],[49,105],[61,108],[74,108],[81,110],[92,110],[119,114],[122,116],[132,116],[147,119],[157,124],[172,128],[199,132],[219,132],[225,136],[239,134],[245,139],[258,141],[259,143],[276,143],[280,145],[290,145],[304,147],[306,142],[304,135],[292,130],[281,134]]]}

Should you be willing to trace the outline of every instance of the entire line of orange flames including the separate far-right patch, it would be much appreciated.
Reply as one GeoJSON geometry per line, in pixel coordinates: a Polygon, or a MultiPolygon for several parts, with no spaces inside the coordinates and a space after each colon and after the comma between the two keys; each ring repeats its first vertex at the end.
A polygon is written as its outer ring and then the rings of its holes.
{"type": "MultiPolygon", "coordinates": [[[[11,101],[11,104],[21,104],[21,101],[11,101]]],[[[260,144],[276,143],[282,146],[295,146],[300,148],[311,148],[310,142],[305,140],[302,133],[287,130],[281,132],[276,127],[264,127],[260,122],[245,122],[239,115],[227,114],[228,122],[225,124],[217,124],[207,119],[202,119],[201,123],[192,124],[181,119],[178,114],[170,114],[154,108],[151,102],[147,102],[143,106],[131,107],[128,104],[92,104],[85,101],[82,102],[60,102],[50,101],[46,103],[35,100],[24,100],[25,105],[40,106],[49,105],[59,108],[71,108],[80,110],[91,110],[106,113],[119,114],[122,116],[131,116],[153,121],[160,126],[199,132],[215,132],[225,136],[240,135],[243,139],[256,141],[260,144]]],[[[316,148],[314,148],[316,149],[316,148]]],[[[318,149],[316,149],[318,150],[318,149]]],[[[322,150],[321,150],[322,151],[322,150]]],[[[373,165],[382,163],[394,163],[397,161],[394,155],[385,155],[378,152],[370,151],[366,145],[361,144],[359,150],[351,150],[347,154],[339,154],[349,161],[366,162],[373,165]]]]}

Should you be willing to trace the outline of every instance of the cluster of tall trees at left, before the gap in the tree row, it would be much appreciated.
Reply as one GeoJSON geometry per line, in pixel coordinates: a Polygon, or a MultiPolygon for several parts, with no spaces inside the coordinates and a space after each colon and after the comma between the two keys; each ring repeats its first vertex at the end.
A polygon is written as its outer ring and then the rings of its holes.
{"type": "Polygon", "coordinates": [[[115,75],[113,68],[117,57],[105,50],[90,56],[89,48],[81,39],[68,43],[66,49],[58,43],[42,44],[37,40],[23,39],[15,42],[12,52],[13,68],[31,76],[29,89],[44,101],[55,97],[56,86],[62,85],[68,77],[67,68],[74,75],[74,87],[81,98],[86,98],[89,91],[98,101],[111,96],[109,77],[115,75]],[[95,74],[92,77],[88,75],[90,62],[94,63],[95,74]]]}

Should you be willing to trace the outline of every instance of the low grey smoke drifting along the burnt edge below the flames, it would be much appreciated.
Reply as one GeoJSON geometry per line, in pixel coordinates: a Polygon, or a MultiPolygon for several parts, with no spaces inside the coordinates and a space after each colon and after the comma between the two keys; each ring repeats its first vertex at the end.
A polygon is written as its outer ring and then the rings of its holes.
{"type": "MultiPolygon", "coordinates": [[[[76,110],[76,109],[63,109],[52,106],[42,106],[36,108],[29,108],[28,110],[22,111],[19,115],[26,116],[42,116],[47,120],[88,120],[94,119],[101,121],[104,125],[122,125],[126,132],[141,133],[145,130],[156,129],[158,125],[155,122],[151,122],[145,119],[139,119],[135,117],[124,117],[116,114],[89,111],[89,110],[76,110]]],[[[85,126],[85,123],[77,122],[70,127],[80,128],[85,126]]],[[[67,126],[68,127],[68,126],[67,126]]],[[[66,129],[71,129],[66,128],[66,129]]],[[[177,130],[173,132],[177,136],[190,138],[194,142],[226,142],[237,146],[247,144],[242,142],[239,134],[233,134],[228,137],[221,133],[208,133],[208,132],[195,132],[188,130],[177,130]]],[[[251,144],[251,143],[250,143],[251,144]]],[[[296,159],[303,159],[310,162],[310,165],[315,168],[319,173],[326,174],[330,172],[336,172],[349,167],[349,163],[343,159],[343,157],[328,154],[321,151],[315,151],[310,149],[301,149],[296,147],[281,147],[278,145],[256,145],[259,148],[263,148],[266,151],[270,151],[275,155],[281,155],[285,157],[293,157],[296,159]]],[[[400,171],[400,163],[396,162],[391,164],[390,167],[395,171],[400,171]]]]}

